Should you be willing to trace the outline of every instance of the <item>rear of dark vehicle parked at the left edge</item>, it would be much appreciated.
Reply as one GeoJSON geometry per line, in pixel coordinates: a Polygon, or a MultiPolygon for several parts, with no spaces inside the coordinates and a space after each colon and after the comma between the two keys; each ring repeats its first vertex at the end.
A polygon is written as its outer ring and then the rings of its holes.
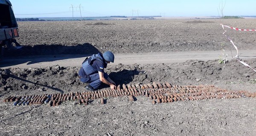
{"type": "Polygon", "coordinates": [[[17,49],[22,46],[17,43],[15,37],[19,37],[18,25],[9,0],[0,0],[0,57],[3,54],[3,47],[17,49]],[[15,43],[16,47],[12,45],[15,43]]]}

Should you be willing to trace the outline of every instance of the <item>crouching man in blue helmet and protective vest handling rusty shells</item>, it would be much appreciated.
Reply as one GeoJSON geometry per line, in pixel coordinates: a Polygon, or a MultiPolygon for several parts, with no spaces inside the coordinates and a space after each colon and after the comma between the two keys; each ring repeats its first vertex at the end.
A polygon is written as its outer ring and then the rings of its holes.
{"type": "Polygon", "coordinates": [[[94,91],[102,82],[110,85],[112,90],[116,89],[116,83],[104,72],[104,68],[107,68],[108,63],[113,63],[114,58],[111,51],[106,51],[104,54],[93,54],[84,60],[78,75],[81,82],[89,83],[85,87],[87,91],[94,91]]]}

